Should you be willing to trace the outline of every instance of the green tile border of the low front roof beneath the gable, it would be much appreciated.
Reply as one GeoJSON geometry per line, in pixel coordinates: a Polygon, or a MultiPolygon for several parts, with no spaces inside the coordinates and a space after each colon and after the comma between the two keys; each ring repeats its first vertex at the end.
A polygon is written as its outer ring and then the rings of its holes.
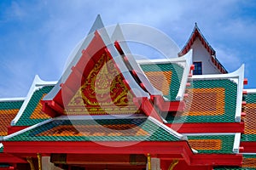
{"type": "MultiPolygon", "coordinates": [[[[117,132],[121,132],[122,130],[116,130],[117,132]]],[[[58,131],[59,132],[59,131],[58,131]]],[[[135,132],[136,134],[138,132],[135,132]]],[[[140,119],[108,119],[108,120],[55,120],[52,122],[48,122],[42,126],[35,127],[25,133],[20,133],[10,139],[9,141],[177,141],[176,137],[172,136],[172,134],[166,132],[165,129],[159,127],[154,124],[150,120],[146,118],[140,119]],[[49,134],[49,130],[54,127],[65,126],[65,125],[73,125],[73,126],[84,126],[83,133],[90,133],[91,126],[93,126],[94,131],[104,133],[103,135],[53,135],[53,133],[49,134]],[[124,132],[127,134],[120,135],[107,135],[104,131],[109,130],[108,127],[103,127],[106,125],[135,125],[146,131],[147,134],[135,135],[134,133],[129,133],[129,130],[126,129],[124,132]],[[86,127],[90,126],[90,127],[86,127]],[[88,130],[88,128],[90,128],[88,130]],[[99,129],[100,128],[100,131],[99,129]],[[106,129],[108,128],[108,129],[106,129]],[[87,129],[87,130],[86,130],[87,129]],[[47,133],[45,133],[48,131],[47,133]],[[44,133],[44,135],[42,135],[44,133]]]]}

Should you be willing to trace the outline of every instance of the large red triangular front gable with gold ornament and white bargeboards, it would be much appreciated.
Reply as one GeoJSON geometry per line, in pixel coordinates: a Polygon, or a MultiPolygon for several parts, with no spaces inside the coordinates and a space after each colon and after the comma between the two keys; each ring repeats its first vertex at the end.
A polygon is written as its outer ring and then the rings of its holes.
{"type": "Polygon", "coordinates": [[[150,99],[149,94],[132,77],[131,68],[125,65],[107,31],[95,31],[87,43],[82,54],[79,51],[75,54],[77,61],[71,62],[55,88],[44,97],[44,112],[49,116],[144,112],[161,122],[149,100],[147,111],[140,104],[134,104],[134,98],[150,99]]]}

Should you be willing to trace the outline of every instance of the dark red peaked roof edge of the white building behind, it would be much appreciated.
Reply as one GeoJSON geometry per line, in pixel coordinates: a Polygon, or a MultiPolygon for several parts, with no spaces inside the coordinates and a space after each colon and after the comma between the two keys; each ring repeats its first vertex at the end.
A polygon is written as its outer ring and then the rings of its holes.
{"type": "Polygon", "coordinates": [[[215,65],[218,68],[218,71],[220,71],[221,73],[228,73],[228,71],[224,68],[224,66],[216,58],[215,50],[212,48],[210,43],[207,42],[207,39],[202,35],[202,33],[201,33],[201,31],[200,31],[200,29],[199,29],[199,27],[197,26],[196,23],[195,23],[194,30],[192,31],[192,33],[189,37],[189,40],[185,43],[182,50],[178,53],[178,56],[182,56],[182,55],[187,54],[189,52],[189,49],[191,48],[191,46],[195,42],[196,37],[198,37],[200,39],[204,48],[206,48],[207,52],[211,55],[212,64],[215,65]]]}

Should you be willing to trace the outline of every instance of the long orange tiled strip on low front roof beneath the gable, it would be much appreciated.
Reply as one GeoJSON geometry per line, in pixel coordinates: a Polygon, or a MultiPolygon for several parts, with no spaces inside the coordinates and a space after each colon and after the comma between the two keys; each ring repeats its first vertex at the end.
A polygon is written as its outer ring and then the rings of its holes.
{"type": "Polygon", "coordinates": [[[133,124],[119,125],[61,125],[37,136],[145,136],[141,127],[133,124]]]}

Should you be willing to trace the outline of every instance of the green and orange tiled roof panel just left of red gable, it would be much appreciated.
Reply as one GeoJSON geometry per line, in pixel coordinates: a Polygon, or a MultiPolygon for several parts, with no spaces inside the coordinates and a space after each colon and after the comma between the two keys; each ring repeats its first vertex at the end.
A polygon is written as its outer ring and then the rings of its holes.
{"type": "Polygon", "coordinates": [[[53,86],[44,86],[33,92],[32,97],[29,99],[25,110],[22,112],[19,120],[15,123],[15,126],[31,126],[50,118],[42,112],[43,105],[41,104],[41,100],[52,88],[53,86]]]}

